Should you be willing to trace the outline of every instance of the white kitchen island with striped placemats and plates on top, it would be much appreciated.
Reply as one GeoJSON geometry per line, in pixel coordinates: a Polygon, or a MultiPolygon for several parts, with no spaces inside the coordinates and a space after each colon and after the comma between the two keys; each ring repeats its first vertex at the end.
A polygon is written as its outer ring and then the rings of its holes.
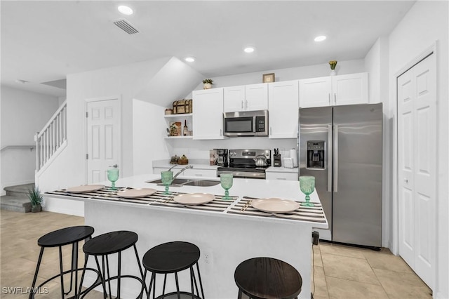
{"type": "MultiPolygon", "coordinates": [[[[116,186],[162,191],[163,186],[145,182],[159,177],[149,174],[121,178],[116,186]]],[[[109,183],[104,182],[103,185],[109,183]]],[[[170,187],[170,191],[206,192],[220,196],[224,193],[220,184],[210,187],[170,187]]],[[[217,201],[216,205],[210,205],[212,208],[181,206],[173,201],[168,202],[163,197],[140,202],[139,199],[109,197],[109,194],[103,197],[95,194],[67,194],[63,190],[48,192],[46,197],[84,201],[85,223],[95,228],[94,236],[114,230],[136,232],[139,235],[137,247],[140,258],[149,248],[168,241],[189,241],[196,244],[201,250],[199,267],[206,298],[236,298],[238,289],[234,282],[234,270],[243,260],[254,257],[277,258],[293,265],[303,280],[299,298],[310,298],[312,227],[328,227],[316,192],[311,194],[311,201],[317,203],[316,211],[321,213],[318,221],[309,217],[309,213],[305,213],[304,217],[274,215],[254,209],[251,211],[251,207],[241,212],[248,203],[249,199],[246,197],[303,201],[304,194],[295,181],[234,178],[229,194],[234,197],[234,201],[217,201]]],[[[114,258],[109,259],[113,273],[116,271],[114,258]]],[[[122,259],[126,260],[122,263],[122,273],[138,275],[133,251],[125,251],[122,259]]],[[[160,280],[157,285],[161,291],[163,275],[158,278],[160,280]]],[[[173,291],[174,286],[174,278],[169,276],[167,291],[173,291]]],[[[180,286],[189,290],[188,271],[180,273],[180,286]]],[[[136,288],[134,281],[123,281],[122,297],[135,298],[136,288]]]]}

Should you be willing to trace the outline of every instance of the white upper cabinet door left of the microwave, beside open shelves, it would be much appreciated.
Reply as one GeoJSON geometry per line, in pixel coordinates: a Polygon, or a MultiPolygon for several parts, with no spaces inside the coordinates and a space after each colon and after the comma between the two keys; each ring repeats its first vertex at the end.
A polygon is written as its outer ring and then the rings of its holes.
{"type": "Polygon", "coordinates": [[[193,91],[193,139],[224,139],[223,88],[193,91]]]}

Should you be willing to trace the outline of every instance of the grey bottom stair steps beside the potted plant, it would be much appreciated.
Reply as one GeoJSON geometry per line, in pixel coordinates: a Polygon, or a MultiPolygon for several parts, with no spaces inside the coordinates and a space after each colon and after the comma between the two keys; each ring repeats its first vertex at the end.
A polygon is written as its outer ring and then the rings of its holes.
{"type": "Polygon", "coordinates": [[[32,188],[34,188],[34,184],[5,187],[6,195],[0,197],[0,208],[21,213],[31,212],[28,190],[32,188]]]}

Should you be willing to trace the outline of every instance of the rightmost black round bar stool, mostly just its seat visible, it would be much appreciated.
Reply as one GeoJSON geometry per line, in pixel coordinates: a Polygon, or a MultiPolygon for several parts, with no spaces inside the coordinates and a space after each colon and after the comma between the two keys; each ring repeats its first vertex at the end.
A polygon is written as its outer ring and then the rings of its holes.
{"type": "Polygon", "coordinates": [[[250,258],[236,267],[234,279],[242,293],[253,299],[293,299],[301,293],[302,278],[292,265],[276,258],[250,258]]]}

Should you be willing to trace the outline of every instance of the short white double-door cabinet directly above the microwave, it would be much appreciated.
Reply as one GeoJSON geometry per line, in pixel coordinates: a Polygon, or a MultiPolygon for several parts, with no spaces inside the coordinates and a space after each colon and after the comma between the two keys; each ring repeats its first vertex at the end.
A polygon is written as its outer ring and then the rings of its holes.
{"type": "Polygon", "coordinates": [[[251,84],[224,88],[224,112],[268,109],[268,84],[251,84]]]}

